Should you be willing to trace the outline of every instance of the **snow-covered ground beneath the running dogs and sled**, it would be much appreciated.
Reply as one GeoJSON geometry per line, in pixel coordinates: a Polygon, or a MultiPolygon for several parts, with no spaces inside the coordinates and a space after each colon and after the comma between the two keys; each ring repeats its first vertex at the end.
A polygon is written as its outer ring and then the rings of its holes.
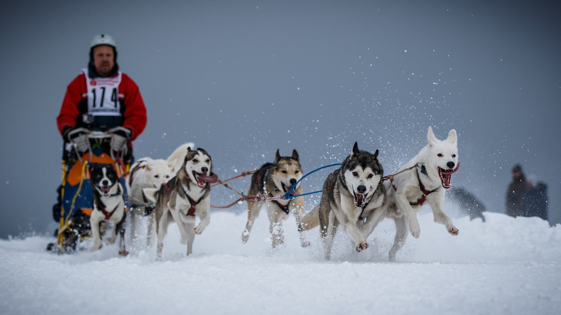
{"type": "Polygon", "coordinates": [[[264,212],[241,244],[245,214],[213,212],[183,257],[175,226],[163,261],[153,252],[117,256],[117,245],[73,255],[45,251],[49,237],[0,241],[2,314],[559,314],[561,225],[485,212],[486,223],[454,219],[448,235],[419,214],[421,236],[388,263],[393,221],[353,252],[339,231],[323,260],[319,231],[301,248],[293,217],[285,244],[270,249],[264,212]]]}

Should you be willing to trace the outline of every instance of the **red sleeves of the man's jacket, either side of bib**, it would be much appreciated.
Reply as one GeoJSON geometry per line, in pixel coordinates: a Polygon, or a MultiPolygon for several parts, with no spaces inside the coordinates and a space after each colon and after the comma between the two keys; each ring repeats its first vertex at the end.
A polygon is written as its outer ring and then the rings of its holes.
{"type": "MultiPolygon", "coordinates": [[[[62,101],[61,112],[57,117],[58,132],[62,135],[62,129],[66,126],[76,126],[77,119],[81,119],[79,104],[82,99],[88,99],[86,90],[86,76],[80,73],[66,89],[65,99],[62,101]]],[[[122,126],[131,130],[131,141],[142,133],[146,127],[146,107],[139,87],[125,73],[122,73],[119,84],[119,101],[123,100],[125,111],[123,112],[122,126]]]]}

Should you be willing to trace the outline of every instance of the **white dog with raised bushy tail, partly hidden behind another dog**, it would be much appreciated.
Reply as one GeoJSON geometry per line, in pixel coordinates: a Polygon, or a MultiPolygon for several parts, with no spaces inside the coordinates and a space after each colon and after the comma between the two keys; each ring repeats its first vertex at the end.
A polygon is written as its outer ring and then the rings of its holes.
{"type": "Polygon", "coordinates": [[[192,142],[185,143],[178,147],[167,160],[142,158],[131,165],[131,170],[126,178],[129,201],[131,203],[130,223],[131,240],[136,243],[139,235],[139,219],[143,216],[148,217],[148,247],[152,244],[154,217],[151,215],[154,207],[145,206],[148,200],[145,198],[142,189],[159,188],[168,182],[181,168],[181,164],[187,155],[187,147],[194,147],[192,142]],[[177,164],[180,160],[180,164],[177,164]]]}

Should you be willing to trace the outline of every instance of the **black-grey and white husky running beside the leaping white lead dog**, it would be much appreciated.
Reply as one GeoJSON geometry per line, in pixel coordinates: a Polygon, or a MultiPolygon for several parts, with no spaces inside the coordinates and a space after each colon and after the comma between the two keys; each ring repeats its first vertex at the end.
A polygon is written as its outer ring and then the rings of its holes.
{"type": "Polygon", "coordinates": [[[355,142],[341,168],[325,179],[321,201],[304,216],[300,229],[320,226],[326,260],[330,259],[339,225],[351,237],[357,252],[368,248],[366,238],[374,230],[386,203],[385,188],[380,183],[383,173],[378,150],[374,154],[358,150],[355,142]]]}

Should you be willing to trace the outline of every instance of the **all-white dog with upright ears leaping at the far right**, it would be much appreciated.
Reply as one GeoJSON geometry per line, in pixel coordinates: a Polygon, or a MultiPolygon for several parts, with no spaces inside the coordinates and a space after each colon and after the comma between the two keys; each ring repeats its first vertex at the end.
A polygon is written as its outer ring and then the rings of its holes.
{"type": "Polygon", "coordinates": [[[413,237],[419,238],[417,212],[425,202],[433,210],[434,221],[444,224],[450,234],[458,235],[458,229],[442,210],[444,189],[450,188],[452,173],[459,168],[456,130],[450,130],[448,138],[440,141],[429,127],[427,140],[428,145],[397,172],[416,164],[419,167],[384,182],[388,193],[386,216],[396,222],[396,237],[389,251],[389,261],[396,259],[396,252],[405,243],[409,231],[413,237]]]}

